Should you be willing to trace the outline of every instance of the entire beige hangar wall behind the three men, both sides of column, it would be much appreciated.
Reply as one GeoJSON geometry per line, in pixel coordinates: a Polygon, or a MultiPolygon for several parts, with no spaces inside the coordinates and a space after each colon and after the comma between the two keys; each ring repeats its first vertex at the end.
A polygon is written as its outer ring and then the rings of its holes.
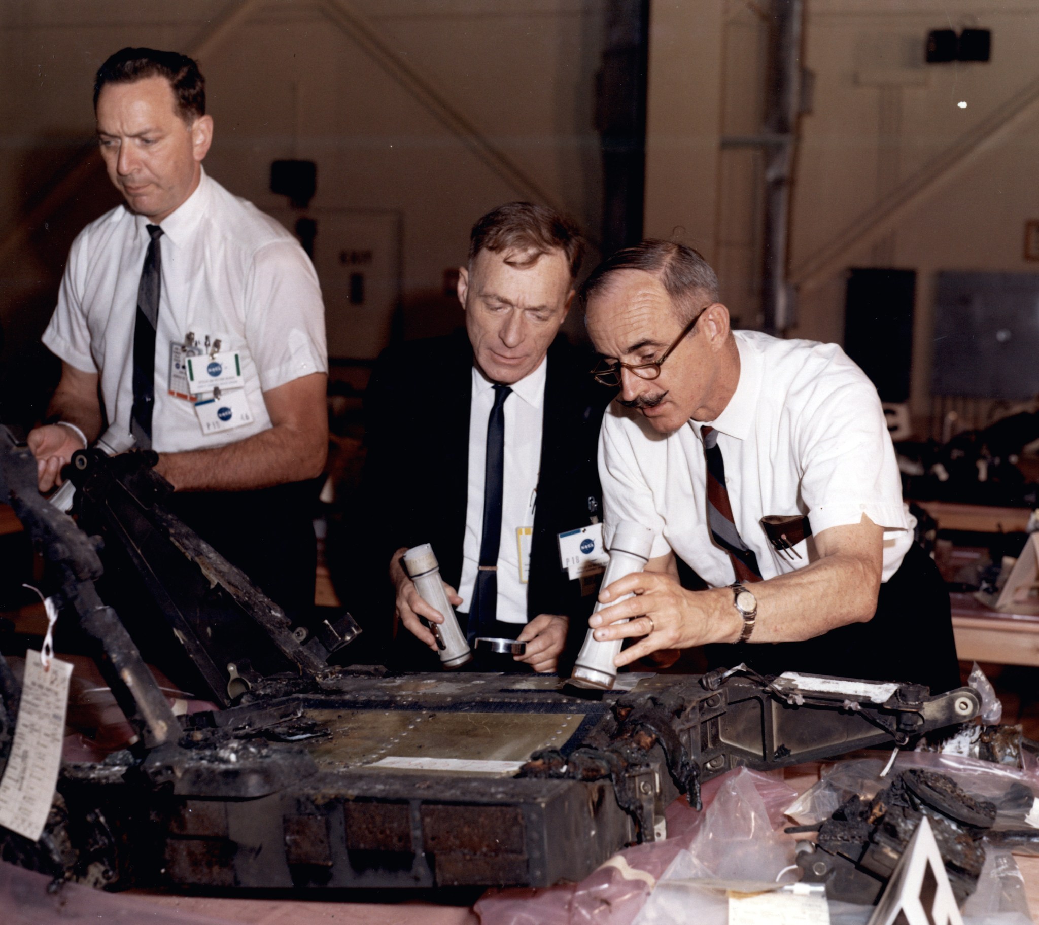
{"type": "MultiPolygon", "coordinates": [[[[703,250],[750,327],[762,158],[731,139],[761,127],[763,5],[652,0],[650,15],[645,230],[703,250]]],[[[800,298],[789,334],[843,339],[848,268],[915,269],[911,400],[924,415],[936,274],[1037,266],[1023,234],[1039,218],[1039,58],[1030,53],[1039,8],[810,0],[806,9],[803,63],[815,91],[797,157],[791,272],[800,298]],[[989,63],[923,63],[929,30],[964,26],[992,30],[989,63]]],[[[541,198],[598,238],[594,86],[606,23],[606,0],[5,0],[5,363],[32,355],[69,244],[116,201],[92,152],[89,105],[92,73],[111,51],[197,54],[216,123],[208,169],[288,223],[302,213],[269,191],[270,162],[316,161],[308,214],[319,220],[323,277],[339,280],[339,293],[353,263],[376,250],[374,263],[399,279],[369,288],[370,298],[399,297],[400,330],[419,335],[458,322],[445,271],[462,261],[473,219],[495,205],[541,198]]],[[[337,304],[329,320],[348,327],[354,309],[349,299],[337,304]]],[[[580,332],[576,319],[570,326],[580,332]]],[[[365,343],[380,336],[384,328],[365,343]]]]}

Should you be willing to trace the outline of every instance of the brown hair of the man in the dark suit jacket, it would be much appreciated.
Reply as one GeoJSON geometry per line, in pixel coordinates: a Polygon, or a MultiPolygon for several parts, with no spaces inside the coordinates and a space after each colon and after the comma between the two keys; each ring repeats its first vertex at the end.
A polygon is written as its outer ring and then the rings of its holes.
{"type": "Polygon", "coordinates": [[[509,263],[527,267],[543,253],[561,250],[570,267],[570,278],[574,278],[581,269],[584,248],[584,237],[572,219],[545,206],[507,202],[473,225],[469,236],[469,262],[472,266],[481,250],[501,253],[516,249],[523,251],[525,257],[509,263]]]}

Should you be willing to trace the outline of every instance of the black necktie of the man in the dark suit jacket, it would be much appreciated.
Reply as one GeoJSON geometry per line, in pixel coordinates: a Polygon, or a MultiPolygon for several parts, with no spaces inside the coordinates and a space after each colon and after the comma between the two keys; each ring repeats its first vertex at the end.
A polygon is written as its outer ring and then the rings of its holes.
{"type": "Polygon", "coordinates": [[[505,477],[505,400],[507,385],[495,386],[495,405],[487,417],[487,458],[483,479],[483,536],[473,604],[469,608],[470,643],[494,635],[498,613],[498,549],[502,543],[502,489],[505,477]]]}

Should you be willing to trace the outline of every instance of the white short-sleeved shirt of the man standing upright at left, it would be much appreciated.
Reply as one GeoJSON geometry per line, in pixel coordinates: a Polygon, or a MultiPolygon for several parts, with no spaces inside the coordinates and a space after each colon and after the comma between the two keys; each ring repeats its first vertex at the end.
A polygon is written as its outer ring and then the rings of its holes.
{"type": "MultiPolygon", "coordinates": [[[[119,206],[73,242],[44,344],[98,373],[109,432],[127,434],[133,404],[137,289],[150,220],[119,206]]],[[[203,171],[160,223],[161,294],[152,445],[159,453],[237,442],[271,427],[263,392],[327,371],[324,307],[314,266],[273,218],[203,171]],[[251,424],[204,435],[191,402],[170,395],[170,348],[191,332],[238,351],[251,424]]]]}

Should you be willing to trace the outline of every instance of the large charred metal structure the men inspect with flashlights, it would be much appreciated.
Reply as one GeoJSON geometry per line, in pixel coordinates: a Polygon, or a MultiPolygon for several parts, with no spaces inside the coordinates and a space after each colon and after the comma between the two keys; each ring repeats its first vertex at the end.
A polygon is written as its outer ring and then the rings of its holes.
{"type": "MultiPolygon", "coordinates": [[[[633,675],[595,699],[559,678],[392,675],[330,665],[347,616],[314,632],[163,509],[168,485],[133,453],[74,457],[79,524],[35,488],[0,429],[0,497],[52,569],[51,592],[99,646],[136,741],[66,762],[37,843],[0,829],[0,856],[59,879],[176,888],[547,887],[666,835],[664,808],[737,767],[768,769],[906,742],[964,723],[971,688],[737,666],[633,675]],[[81,528],[83,527],[83,528],[81,528]],[[101,538],[101,539],[98,539],[101,538]],[[176,716],[100,599],[98,546],[119,544],[223,709],[176,716]]],[[[18,683],[0,658],[0,770],[18,683]]]]}

